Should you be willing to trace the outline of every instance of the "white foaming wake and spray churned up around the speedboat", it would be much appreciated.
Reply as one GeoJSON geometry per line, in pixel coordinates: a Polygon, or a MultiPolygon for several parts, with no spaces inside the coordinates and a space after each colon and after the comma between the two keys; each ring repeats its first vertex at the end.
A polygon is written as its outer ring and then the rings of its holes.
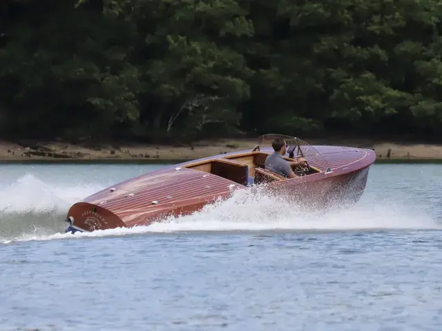
{"type": "MultiPolygon", "coordinates": [[[[171,232],[310,231],[441,228],[427,210],[378,197],[369,187],[359,203],[326,214],[301,212],[278,197],[238,191],[190,216],[135,228],[65,234],[62,221],[75,201],[104,187],[45,183],[27,174],[0,193],[0,243],[171,232]]],[[[398,199],[399,200],[399,199],[398,199]]]]}

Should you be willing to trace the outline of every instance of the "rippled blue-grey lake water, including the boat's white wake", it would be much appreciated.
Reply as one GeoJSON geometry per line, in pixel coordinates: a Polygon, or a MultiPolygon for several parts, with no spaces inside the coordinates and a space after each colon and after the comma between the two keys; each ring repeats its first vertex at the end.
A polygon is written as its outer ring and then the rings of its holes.
{"type": "Polygon", "coordinates": [[[69,206],[162,165],[0,165],[0,330],[442,330],[442,165],[322,217],[237,194],[127,230],[69,206]]]}

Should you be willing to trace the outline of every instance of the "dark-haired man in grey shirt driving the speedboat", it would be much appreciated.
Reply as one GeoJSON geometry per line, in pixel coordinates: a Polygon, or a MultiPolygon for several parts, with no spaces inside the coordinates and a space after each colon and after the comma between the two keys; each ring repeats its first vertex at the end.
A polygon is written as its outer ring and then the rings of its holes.
{"type": "Polygon", "coordinates": [[[265,159],[264,165],[266,169],[276,172],[277,174],[280,174],[282,177],[294,178],[296,177],[296,174],[293,172],[293,170],[291,170],[292,166],[296,165],[303,165],[305,167],[307,166],[307,160],[304,159],[303,157],[292,162],[282,159],[282,156],[285,155],[285,153],[287,152],[284,139],[276,137],[271,142],[271,147],[273,147],[273,150],[275,150],[275,152],[270,154],[267,157],[267,159],[265,159]]]}

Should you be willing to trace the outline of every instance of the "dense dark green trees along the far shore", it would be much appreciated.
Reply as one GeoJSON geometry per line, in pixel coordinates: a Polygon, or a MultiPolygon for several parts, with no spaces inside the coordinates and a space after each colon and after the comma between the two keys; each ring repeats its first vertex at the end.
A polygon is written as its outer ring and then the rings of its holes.
{"type": "Polygon", "coordinates": [[[3,0],[3,137],[414,134],[442,124],[438,0],[3,0]]]}

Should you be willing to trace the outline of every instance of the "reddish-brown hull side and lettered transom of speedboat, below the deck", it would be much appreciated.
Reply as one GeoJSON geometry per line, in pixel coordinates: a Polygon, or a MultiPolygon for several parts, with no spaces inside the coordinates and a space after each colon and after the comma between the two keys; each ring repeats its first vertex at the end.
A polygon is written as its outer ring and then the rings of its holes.
{"type": "MultiPolygon", "coordinates": [[[[281,198],[285,203],[296,205],[298,210],[326,212],[331,209],[349,208],[349,206],[357,203],[365,190],[368,174],[369,167],[366,167],[316,181],[298,183],[286,180],[258,185],[253,188],[244,188],[244,190],[250,190],[251,194],[265,194],[281,198]]],[[[155,209],[126,210],[118,214],[92,203],[79,202],[75,203],[68,212],[68,215],[75,219],[73,224],[75,228],[70,226],[66,231],[93,231],[150,225],[151,223],[164,221],[168,217],[193,214],[202,210],[205,205],[228,199],[231,193],[223,192],[209,197],[188,199],[181,203],[163,205],[155,209]],[[95,211],[94,208],[96,208],[95,211]]]]}

